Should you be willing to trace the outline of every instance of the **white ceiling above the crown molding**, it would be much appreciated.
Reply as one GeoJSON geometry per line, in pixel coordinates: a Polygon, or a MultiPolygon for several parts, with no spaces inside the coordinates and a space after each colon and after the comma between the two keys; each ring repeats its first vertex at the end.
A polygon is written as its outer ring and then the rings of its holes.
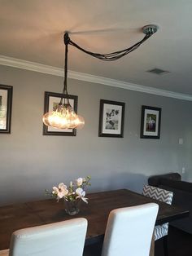
{"type": "Polygon", "coordinates": [[[83,48],[108,53],[159,31],[139,49],[104,62],[69,46],[68,68],[79,73],[192,95],[191,0],[0,0],[0,55],[63,68],[63,32],[83,48]],[[161,68],[170,73],[146,73],[161,68]]]}

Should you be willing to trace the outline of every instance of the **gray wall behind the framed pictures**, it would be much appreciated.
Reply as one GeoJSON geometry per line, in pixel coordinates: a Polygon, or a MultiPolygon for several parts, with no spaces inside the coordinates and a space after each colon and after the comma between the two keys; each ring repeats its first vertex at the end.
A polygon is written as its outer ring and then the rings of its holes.
{"type": "Polygon", "coordinates": [[[192,103],[68,79],[85,128],[76,137],[42,135],[44,91],[61,92],[62,77],[0,66],[13,86],[11,135],[0,134],[0,205],[44,198],[46,188],[91,175],[90,191],[142,191],[147,177],[185,167],[192,178],[192,103]],[[124,138],[98,137],[99,100],[125,102],[124,138]],[[140,139],[142,104],[162,108],[161,138],[140,139]],[[184,144],[179,145],[178,139],[184,144]]]}

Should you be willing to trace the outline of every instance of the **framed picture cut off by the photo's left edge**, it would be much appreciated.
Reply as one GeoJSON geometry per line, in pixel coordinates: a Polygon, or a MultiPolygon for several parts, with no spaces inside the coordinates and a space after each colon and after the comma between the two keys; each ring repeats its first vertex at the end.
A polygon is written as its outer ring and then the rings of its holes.
{"type": "Polygon", "coordinates": [[[12,86],[0,85],[0,133],[11,133],[12,86]]]}

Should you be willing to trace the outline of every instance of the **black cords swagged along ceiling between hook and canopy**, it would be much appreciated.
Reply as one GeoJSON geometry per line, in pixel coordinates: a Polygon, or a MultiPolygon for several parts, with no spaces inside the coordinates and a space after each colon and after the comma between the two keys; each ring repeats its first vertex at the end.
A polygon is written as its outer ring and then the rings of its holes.
{"type": "Polygon", "coordinates": [[[124,50],[121,50],[121,51],[114,51],[114,52],[107,53],[107,54],[95,53],[95,52],[87,51],[87,50],[81,48],[81,46],[78,46],[75,42],[72,42],[72,40],[68,37],[68,33],[64,34],[64,42],[65,42],[65,44],[67,42],[71,46],[75,46],[80,51],[83,51],[86,54],[91,55],[94,58],[97,58],[99,60],[114,61],[114,60],[119,60],[124,55],[129,54],[129,52],[136,50],[139,46],[142,45],[143,42],[145,42],[148,38],[150,38],[153,33],[155,33],[155,32],[152,29],[151,30],[149,29],[149,31],[148,31],[148,33],[146,33],[145,37],[141,41],[134,44],[133,46],[126,48],[124,50]]]}

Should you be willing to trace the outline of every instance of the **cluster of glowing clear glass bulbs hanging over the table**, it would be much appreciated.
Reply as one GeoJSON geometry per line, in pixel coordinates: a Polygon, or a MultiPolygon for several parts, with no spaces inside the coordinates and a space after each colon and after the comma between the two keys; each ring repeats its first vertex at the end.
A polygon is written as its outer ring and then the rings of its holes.
{"type": "Polygon", "coordinates": [[[81,129],[85,125],[84,118],[78,116],[70,104],[59,105],[55,111],[46,113],[42,121],[57,129],[81,129]]]}

